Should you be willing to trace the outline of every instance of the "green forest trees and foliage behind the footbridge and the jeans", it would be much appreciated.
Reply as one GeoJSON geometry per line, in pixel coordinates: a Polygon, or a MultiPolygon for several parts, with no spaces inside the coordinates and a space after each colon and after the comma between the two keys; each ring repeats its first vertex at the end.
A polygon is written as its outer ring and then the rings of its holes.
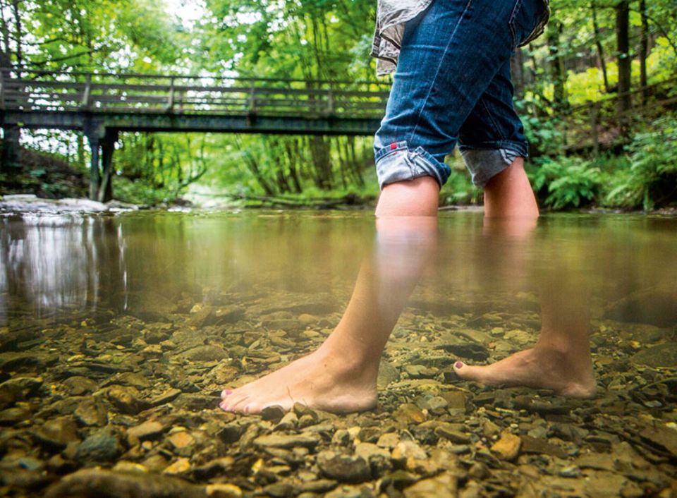
{"type": "MultiPolygon", "coordinates": [[[[551,8],[544,35],[511,64],[539,201],[552,209],[671,205],[677,0],[554,0],[551,8]]],[[[0,0],[0,63],[25,76],[374,80],[375,10],[376,0],[0,0]]],[[[79,133],[24,130],[21,141],[87,168],[79,133]]],[[[122,200],[160,202],[188,189],[300,204],[378,193],[368,137],[123,133],[116,148],[122,200]]],[[[441,201],[481,202],[458,154],[447,162],[453,173],[441,201]]]]}

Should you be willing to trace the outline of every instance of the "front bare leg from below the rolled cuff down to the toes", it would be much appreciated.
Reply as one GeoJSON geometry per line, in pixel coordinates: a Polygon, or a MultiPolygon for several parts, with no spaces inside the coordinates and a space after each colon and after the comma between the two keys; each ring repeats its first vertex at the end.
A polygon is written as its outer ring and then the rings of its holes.
{"type": "Polygon", "coordinates": [[[437,181],[428,176],[386,186],[376,210],[374,254],[362,265],[334,332],[310,355],[224,391],[221,408],[259,413],[297,401],[336,413],[372,408],[381,353],[434,248],[438,196],[437,181]]]}

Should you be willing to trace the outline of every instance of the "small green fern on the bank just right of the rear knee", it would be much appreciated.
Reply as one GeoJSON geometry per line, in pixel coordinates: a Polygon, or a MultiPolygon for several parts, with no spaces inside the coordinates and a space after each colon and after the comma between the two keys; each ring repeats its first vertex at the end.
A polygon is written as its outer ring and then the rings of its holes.
{"type": "Polygon", "coordinates": [[[602,185],[602,171],[578,157],[541,158],[527,169],[542,205],[571,209],[590,205],[602,185]]]}

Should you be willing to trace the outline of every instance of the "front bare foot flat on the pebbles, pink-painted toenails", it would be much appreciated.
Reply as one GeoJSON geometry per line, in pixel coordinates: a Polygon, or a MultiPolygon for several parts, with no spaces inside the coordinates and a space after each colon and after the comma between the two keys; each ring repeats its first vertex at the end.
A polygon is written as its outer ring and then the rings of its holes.
{"type": "Polygon", "coordinates": [[[291,410],[294,403],[332,413],[365,411],[377,400],[378,372],[371,370],[319,348],[243,387],[224,390],[219,406],[236,413],[260,413],[274,405],[291,410]]]}

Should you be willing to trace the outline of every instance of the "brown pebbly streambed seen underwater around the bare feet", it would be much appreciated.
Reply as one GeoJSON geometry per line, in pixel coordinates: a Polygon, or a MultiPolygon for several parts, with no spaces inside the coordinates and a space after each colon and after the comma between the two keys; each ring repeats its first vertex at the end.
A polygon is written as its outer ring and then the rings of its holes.
{"type": "Polygon", "coordinates": [[[311,351],[340,310],[160,301],[0,329],[1,496],[677,496],[673,329],[595,320],[599,395],[572,400],[453,374],[532,344],[536,312],[409,308],[374,411],[234,415],[221,389],[311,351]]]}

